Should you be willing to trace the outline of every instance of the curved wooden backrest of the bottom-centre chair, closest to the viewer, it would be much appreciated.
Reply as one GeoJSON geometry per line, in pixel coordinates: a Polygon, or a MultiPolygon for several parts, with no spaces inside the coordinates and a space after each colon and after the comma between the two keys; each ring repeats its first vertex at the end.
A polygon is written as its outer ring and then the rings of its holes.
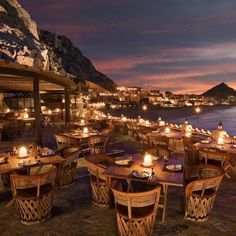
{"type": "Polygon", "coordinates": [[[129,219],[132,218],[132,208],[153,206],[153,211],[156,211],[160,199],[160,190],[160,187],[156,187],[150,191],[127,193],[112,188],[116,204],[128,208],[129,219]]]}

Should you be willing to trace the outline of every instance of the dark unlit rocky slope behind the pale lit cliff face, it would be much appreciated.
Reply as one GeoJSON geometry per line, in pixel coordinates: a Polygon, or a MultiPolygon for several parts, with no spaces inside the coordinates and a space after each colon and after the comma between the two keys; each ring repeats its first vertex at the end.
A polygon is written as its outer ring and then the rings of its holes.
{"type": "Polygon", "coordinates": [[[75,82],[84,83],[87,80],[107,90],[115,89],[115,83],[98,72],[91,61],[81,53],[79,48],[73,45],[70,39],[44,30],[40,30],[39,37],[41,42],[48,46],[50,70],[55,67],[55,63],[57,65],[59,60],[67,73],[76,76],[75,82]]]}

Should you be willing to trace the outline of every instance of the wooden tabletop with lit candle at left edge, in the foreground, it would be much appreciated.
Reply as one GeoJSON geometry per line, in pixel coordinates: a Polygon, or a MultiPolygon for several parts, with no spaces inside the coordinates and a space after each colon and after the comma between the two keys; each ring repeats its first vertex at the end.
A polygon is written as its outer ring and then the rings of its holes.
{"type": "MultiPolygon", "coordinates": [[[[32,163],[35,163],[36,162],[36,159],[34,156],[30,156],[30,157],[27,157],[27,158],[24,158],[24,159],[21,159],[21,158],[18,158],[17,156],[10,156],[8,158],[8,162],[5,163],[5,164],[0,164],[0,174],[6,174],[6,173],[10,173],[12,171],[17,171],[17,170],[20,170],[22,168],[30,168],[32,166],[36,166],[35,165],[27,165],[27,166],[20,166],[19,163],[21,163],[22,161],[31,161],[32,163]]],[[[65,161],[64,158],[62,158],[61,156],[59,155],[53,155],[53,156],[50,156],[50,157],[38,157],[37,160],[39,161],[40,164],[37,164],[37,165],[48,165],[48,164],[61,164],[65,161]]]]}

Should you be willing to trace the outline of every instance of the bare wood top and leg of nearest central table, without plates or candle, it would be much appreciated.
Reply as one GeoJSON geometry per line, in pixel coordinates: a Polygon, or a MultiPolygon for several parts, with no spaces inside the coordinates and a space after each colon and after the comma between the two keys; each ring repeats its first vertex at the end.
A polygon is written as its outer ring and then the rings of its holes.
{"type": "MultiPolygon", "coordinates": [[[[132,176],[132,171],[134,170],[147,170],[150,168],[142,167],[143,157],[141,155],[132,155],[132,161],[134,164],[131,167],[117,166],[114,163],[114,159],[105,155],[95,155],[86,158],[87,161],[92,162],[95,165],[100,165],[104,167],[103,175],[109,178],[109,183],[111,183],[112,178],[124,179],[128,183],[128,189],[131,190],[132,181],[149,182],[153,184],[161,184],[163,189],[163,203],[159,204],[159,208],[163,209],[162,212],[162,222],[165,221],[166,215],[166,204],[169,186],[184,186],[184,174],[182,172],[171,172],[163,170],[165,162],[163,160],[157,160],[154,162],[153,171],[154,176],[151,179],[139,179],[132,176]]],[[[168,164],[178,163],[183,165],[182,160],[169,159],[168,164]]]]}

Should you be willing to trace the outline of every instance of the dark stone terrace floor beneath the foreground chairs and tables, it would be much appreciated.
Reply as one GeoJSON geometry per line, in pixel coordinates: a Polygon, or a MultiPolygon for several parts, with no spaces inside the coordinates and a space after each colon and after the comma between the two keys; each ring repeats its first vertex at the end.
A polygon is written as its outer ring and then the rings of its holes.
{"type": "MultiPolygon", "coordinates": [[[[116,137],[111,148],[134,153],[147,147],[125,137],[116,137]]],[[[83,164],[81,159],[75,185],[56,188],[52,218],[42,224],[22,225],[15,208],[5,208],[11,194],[1,192],[0,235],[118,235],[115,209],[97,207],[91,203],[89,176],[83,164]]],[[[160,222],[159,211],[153,235],[236,235],[236,174],[231,179],[224,178],[212,214],[204,223],[183,218],[184,189],[169,190],[166,222],[160,222]]]]}

